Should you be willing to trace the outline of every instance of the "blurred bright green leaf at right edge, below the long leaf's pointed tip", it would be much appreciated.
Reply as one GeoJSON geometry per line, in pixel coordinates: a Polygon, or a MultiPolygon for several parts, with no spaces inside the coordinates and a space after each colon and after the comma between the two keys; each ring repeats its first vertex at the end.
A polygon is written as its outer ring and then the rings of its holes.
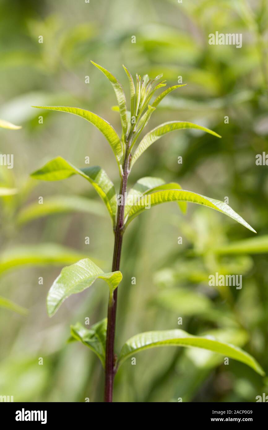
{"type": "Polygon", "coordinates": [[[268,252],[268,235],[250,237],[227,245],[211,249],[219,255],[229,254],[266,254],[268,252]]]}

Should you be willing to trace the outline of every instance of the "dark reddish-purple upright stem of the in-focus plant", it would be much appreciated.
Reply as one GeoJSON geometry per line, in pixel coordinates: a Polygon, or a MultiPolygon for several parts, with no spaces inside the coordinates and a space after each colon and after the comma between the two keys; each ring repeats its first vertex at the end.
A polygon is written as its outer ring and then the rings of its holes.
{"type": "MultiPolygon", "coordinates": [[[[120,185],[120,195],[123,196],[122,203],[118,206],[117,212],[117,224],[114,230],[114,256],[112,272],[120,269],[120,259],[123,242],[123,225],[124,225],[124,209],[125,209],[125,193],[127,178],[129,175],[129,144],[127,144],[126,155],[123,164],[123,175],[120,185]]],[[[112,298],[109,298],[108,304],[108,322],[107,322],[107,336],[106,336],[106,356],[105,356],[105,393],[104,401],[113,401],[113,387],[114,387],[114,375],[115,360],[114,356],[114,336],[115,336],[115,320],[116,320],[116,307],[117,307],[117,288],[114,290],[112,298]]]]}

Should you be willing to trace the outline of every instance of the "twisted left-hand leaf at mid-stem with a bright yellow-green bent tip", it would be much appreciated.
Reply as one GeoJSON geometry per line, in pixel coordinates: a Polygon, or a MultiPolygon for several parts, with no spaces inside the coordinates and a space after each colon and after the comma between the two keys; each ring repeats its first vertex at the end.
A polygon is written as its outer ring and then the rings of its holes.
{"type": "Polygon", "coordinates": [[[117,200],[114,184],[109,179],[105,170],[99,166],[77,169],[62,157],[54,158],[46,163],[41,169],[31,174],[32,178],[42,181],[59,181],[69,178],[72,175],[80,175],[87,179],[95,188],[101,199],[104,201],[113,224],[117,211],[117,200]]]}

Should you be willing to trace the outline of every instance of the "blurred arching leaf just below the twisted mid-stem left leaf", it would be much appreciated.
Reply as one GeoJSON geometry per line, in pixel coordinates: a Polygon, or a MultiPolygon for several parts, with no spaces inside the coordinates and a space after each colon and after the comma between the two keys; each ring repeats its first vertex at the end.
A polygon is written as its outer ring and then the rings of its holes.
{"type": "Polygon", "coordinates": [[[102,203],[81,196],[45,197],[43,205],[31,203],[18,213],[18,224],[24,224],[36,218],[68,212],[86,212],[105,216],[102,203]]]}

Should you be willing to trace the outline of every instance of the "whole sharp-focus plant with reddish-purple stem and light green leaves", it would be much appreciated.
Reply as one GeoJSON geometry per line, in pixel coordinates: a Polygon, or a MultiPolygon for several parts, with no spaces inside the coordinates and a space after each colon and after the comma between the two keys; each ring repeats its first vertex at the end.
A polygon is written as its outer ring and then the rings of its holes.
{"type": "Polygon", "coordinates": [[[179,184],[174,182],[165,183],[165,181],[160,178],[145,177],[139,179],[139,181],[127,191],[129,174],[134,164],[151,144],[167,133],[190,128],[203,130],[203,132],[214,135],[216,138],[221,136],[212,130],[193,123],[186,121],[169,121],[160,124],[147,132],[142,139],[139,139],[151,115],[155,109],[157,109],[158,104],[167,94],[182,85],[174,85],[165,89],[151,102],[154,93],[158,89],[166,86],[166,82],[161,80],[162,75],[154,79],[149,79],[148,75],[145,75],[143,78],[136,75],[136,82],[134,82],[128,69],[123,66],[130,86],[130,110],[127,110],[126,97],[118,80],[105,68],[95,64],[93,61],[92,64],[102,71],[114,88],[117,98],[117,106],[114,107],[114,110],[119,112],[122,126],[120,135],[117,134],[115,129],[103,118],[84,109],[65,106],[34,107],[78,115],[89,121],[89,123],[93,124],[102,132],[114,152],[118,165],[120,175],[120,200],[117,199],[118,196],[111,179],[108,178],[106,172],[99,166],[78,169],[62,157],[57,157],[49,161],[49,163],[46,163],[41,169],[32,173],[32,177],[45,181],[57,181],[69,178],[72,175],[80,175],[92,184],[99,194],[99,197],[105,203],[111,217],[114,230],[113,262],[111,272],[109,273],[104,273],[103,270],[89,258],[85,258],[71,266],[63,268],[62,272],[49,289],[47,296],[47,311],[49,316],[54,315],[66,298],[88,288],[95,279],[101,278],[108,284],[109,299],[107,319],[105,318],[96,323],[91,329],[86,329],[85,326],[80,323],[71,326],[72,338],[88,346],[102,362],[105,369],[105,402],[112,402],[114,376],[119,366],[133,354],[152,347],[173,345],[205,348],[246,363],[255,369],[256,372],[262,374],[262,368],[256,360],[238,347],[217,341],[216,339],[194,336],[179,329],[140,333],[126,341],[118,355],[114,353],[117,287],[122,279],[120,258],[123,235],[127,226],[134,218],[145,210],[145,197],[150,199],[151,206],[176,201],[182,212],[185,212],[187,202],[204,205],[228,215],[253,232],[255,232],[255,230],[227,204],[194,193],[193,191],[183,190],[179,184]],[[133,198],[132,201],[130,199],[131,203],[129,203],[129,196],[144,198],[133,198]],[[118,203],[119,201],[120,204],[118,203]]]}

